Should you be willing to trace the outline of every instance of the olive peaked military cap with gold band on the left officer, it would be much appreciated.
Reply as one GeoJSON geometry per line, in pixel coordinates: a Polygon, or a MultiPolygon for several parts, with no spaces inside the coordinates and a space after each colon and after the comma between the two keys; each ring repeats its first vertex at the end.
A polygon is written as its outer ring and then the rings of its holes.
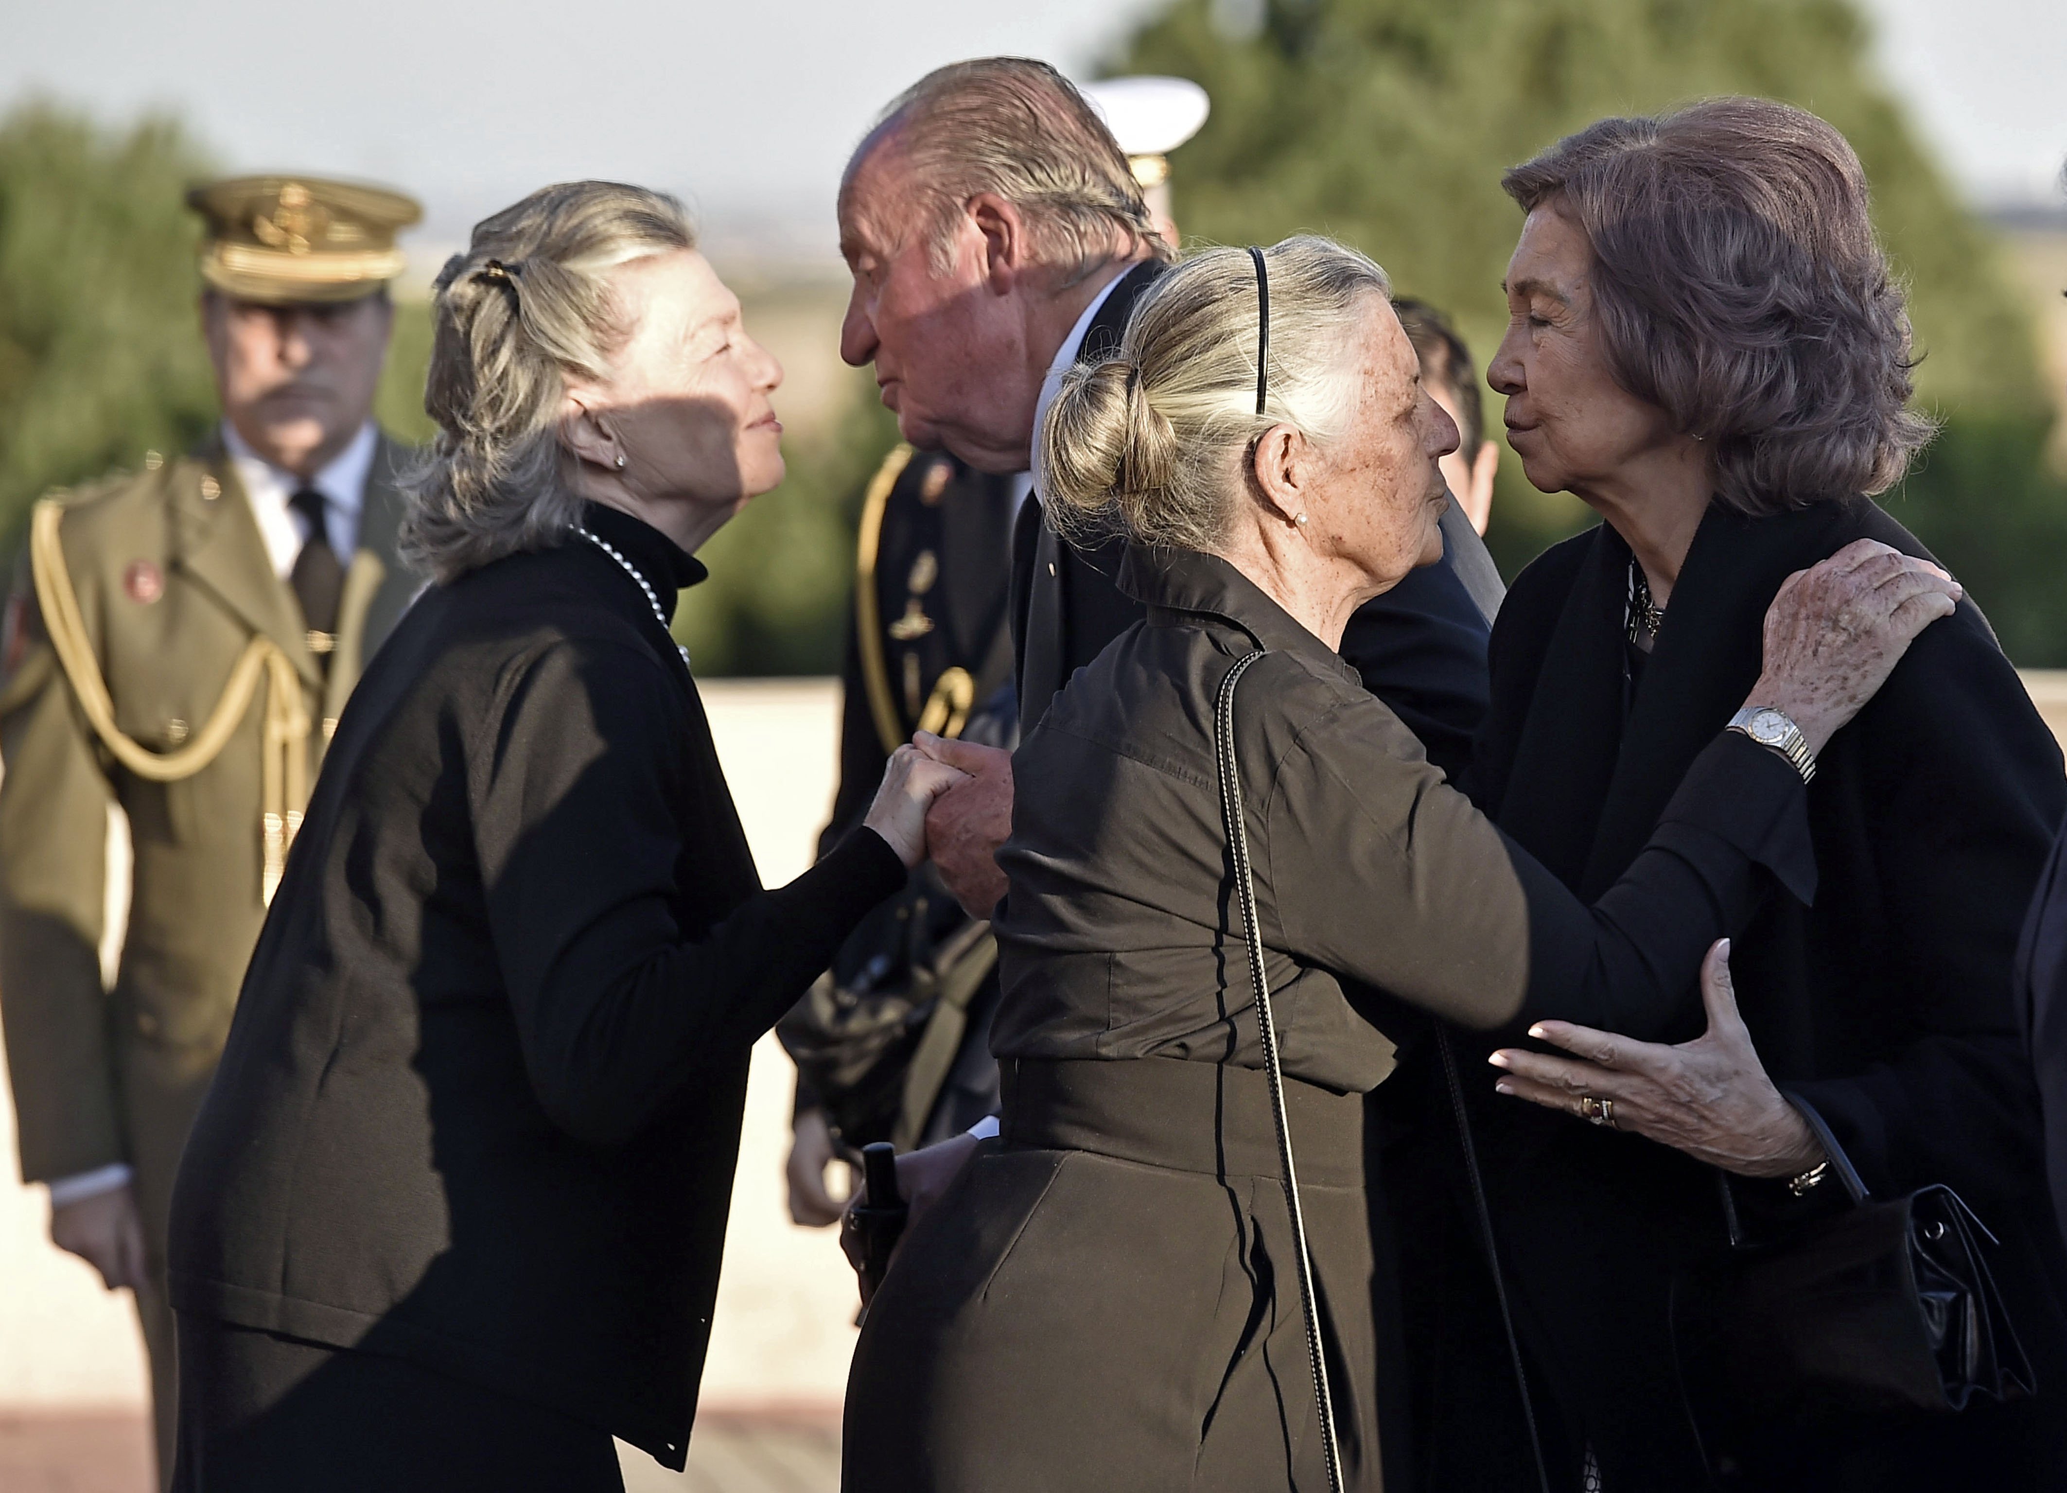
{"type": "Polygon", "coordinates": [[[413,196],[316,176],[234,176],[186,194],[207,221],[200,277],[267,304],[339,302],[395,279],[395,234],[424,217],[413,196]]]}

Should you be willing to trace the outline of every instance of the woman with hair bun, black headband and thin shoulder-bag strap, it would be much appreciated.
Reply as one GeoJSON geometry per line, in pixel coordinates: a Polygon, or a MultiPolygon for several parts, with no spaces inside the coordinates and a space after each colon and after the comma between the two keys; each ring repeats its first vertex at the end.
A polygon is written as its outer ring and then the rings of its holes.
{"type": "MultiPolygon", "coordinates": [[[[1387,292],[1319,238],[1199,254],[1048,414],[1048,511],[1127,536],[1147,618],[1015,757],[1000,1129],[934,1148],[961,1166],[870,1305],[850,1493],[1377,1489],[1362,1094],[1395,1042],[1416,1013],[1664,1032],[1709,943],[1813,871],[1800,773],[1718,730],[1585,906],[1335,653],[1439,556],[1457,443],[1387,292]]],[[[1819,742],[1953,604],[1873,567],[1771,614],[1751,697],[1819,742]]]]}

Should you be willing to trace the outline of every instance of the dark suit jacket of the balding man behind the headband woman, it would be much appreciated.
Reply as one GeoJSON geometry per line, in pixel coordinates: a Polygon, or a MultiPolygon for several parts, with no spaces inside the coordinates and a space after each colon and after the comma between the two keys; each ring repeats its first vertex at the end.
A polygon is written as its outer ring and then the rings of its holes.
{"type": "MultiPolygon", "coordinates": [[[[1079,362],[1110,358],[1135,302],[1164,267],[1149,261],[1120,277],[1083,333],[1079,362]]],[[[1069,676],[1141,620],[1143,608],[1118,585],[1122,540],[1077,550],[1042,523],[1040,494],[1019,509],[1013,531],[1013,662],[1019,732],[1048,711],[1069,676]]],[[[1341,656],[1420,736],[1428,761],[1457,778],[1486,711],[1486,629],[1499,610],[1501,577],[1484,540],[1451,502],[1443,560],[1414,571],[1393,591],[1366,602],[1341,639],[1341,656]]]]}

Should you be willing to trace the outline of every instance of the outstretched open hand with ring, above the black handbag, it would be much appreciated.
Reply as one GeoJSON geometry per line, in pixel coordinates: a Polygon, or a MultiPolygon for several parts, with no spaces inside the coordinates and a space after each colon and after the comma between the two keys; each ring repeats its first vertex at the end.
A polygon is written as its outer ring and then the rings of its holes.
{"type": "Polygon", "coordinates": [[[1736,1011],[1728,939],[1718,939],[1701,962],[1701,1003],[1707,1032],[1676,1046],[1538,1022],[1530,1036],[1575,1057],[1505,1046],[1486,1059],[1505,1069],[1494,1090],[1612,1123],[1738,1177],[1807,1172],[1823,1160],[1823,1146],[1751,1044],[1736,1011]]]}

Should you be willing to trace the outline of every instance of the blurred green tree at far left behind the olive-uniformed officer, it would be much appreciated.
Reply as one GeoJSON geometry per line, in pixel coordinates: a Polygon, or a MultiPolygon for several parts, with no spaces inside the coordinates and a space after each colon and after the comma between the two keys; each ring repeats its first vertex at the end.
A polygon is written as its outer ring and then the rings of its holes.
{"type": "Polygon", "coordinates": [[[184,451],[215,420],[172,120],[101,130],[29,103],[0,122],[0,544],[58,484],[184,451]]]}

